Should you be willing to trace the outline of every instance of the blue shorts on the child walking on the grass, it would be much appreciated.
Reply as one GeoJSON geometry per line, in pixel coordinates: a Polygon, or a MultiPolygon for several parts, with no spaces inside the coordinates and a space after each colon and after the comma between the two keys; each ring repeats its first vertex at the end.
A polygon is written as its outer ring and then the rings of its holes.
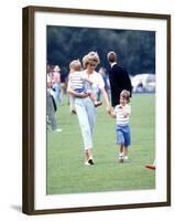
{"type": "Polygon", "coordinates": [[[129,125],[117,125],[117,145],[124,145],[125,147],[131,145],[131,131],[129,125]]]}

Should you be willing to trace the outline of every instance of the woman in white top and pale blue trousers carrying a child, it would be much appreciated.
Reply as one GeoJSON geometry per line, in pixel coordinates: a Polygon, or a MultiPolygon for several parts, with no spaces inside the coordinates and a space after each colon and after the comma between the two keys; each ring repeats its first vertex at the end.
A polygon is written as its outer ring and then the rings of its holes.
{"type": "MultiPolygon", "coordinates": [[[[86,75],[91,82],[91,90],[96,94],[98,90],[100,90],[105,103],[107,112],[110,110],[110,104],[108,99],[108,95],[105,91],[105,83],[99,73],[95,71],[100,60],[96,52],[89,52],[87,55],[83,57],[84,71],[81,71],[83,75],[86,75]]],[[[75,97],[75,107],[76,113],[81,130],[81,136],[84,140],[84,161],[85,165],[94,165],[92,159],[92,134],[96,122],[96,107],[94,106],[91,99],[86,93],[77,93],[72,90],[70,82],[68,83],[67,92],[75,97]]]]}

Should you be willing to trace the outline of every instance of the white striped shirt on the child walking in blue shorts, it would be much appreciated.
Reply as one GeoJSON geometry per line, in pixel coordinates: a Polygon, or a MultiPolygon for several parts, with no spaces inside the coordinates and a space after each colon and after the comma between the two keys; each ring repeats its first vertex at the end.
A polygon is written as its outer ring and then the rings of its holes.
{"type": "Polygon", "coordinates": [[[116,114],[117,125],[128,125],[130,122],[131,106],[125,104],[121,108],[121,105],[117,105],[114,107],[114,114],[116,114]],[[124,115],[123,112],[127,113],[127,115],[124,115]]]}

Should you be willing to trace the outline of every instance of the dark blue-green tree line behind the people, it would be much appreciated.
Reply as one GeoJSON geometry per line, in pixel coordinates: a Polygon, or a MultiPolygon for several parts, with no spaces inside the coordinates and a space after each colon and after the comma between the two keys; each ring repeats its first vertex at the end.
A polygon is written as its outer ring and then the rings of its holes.
{"type": "Polygon", "coordinates": [[[154,31],[48,25],[46,32],[47,63],[59,65],[65,75],[68,74],[69,62],[81,60],[89,51],[98,52],[99,67],[108,70],[107,53],[114,51],[118,63],[130,75],[155,73],[154,31]]]}

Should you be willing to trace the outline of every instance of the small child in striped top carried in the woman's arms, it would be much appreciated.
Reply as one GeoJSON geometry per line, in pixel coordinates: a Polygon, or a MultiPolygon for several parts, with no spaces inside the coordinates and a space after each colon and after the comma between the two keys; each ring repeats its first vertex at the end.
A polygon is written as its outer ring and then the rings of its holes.
{"type": "Polygon", "coordinates": [[[90,90],[92,82],[83,74],[81,71],[81,63],[79,60],[74,60],[69,64],[70,73],[69,73],[69,81],[72,85],[72,90],[78,93],[86,93],[89,95],[94,105],[100,106],[102,102],[98,102],[95,94],[90,90]]]}

